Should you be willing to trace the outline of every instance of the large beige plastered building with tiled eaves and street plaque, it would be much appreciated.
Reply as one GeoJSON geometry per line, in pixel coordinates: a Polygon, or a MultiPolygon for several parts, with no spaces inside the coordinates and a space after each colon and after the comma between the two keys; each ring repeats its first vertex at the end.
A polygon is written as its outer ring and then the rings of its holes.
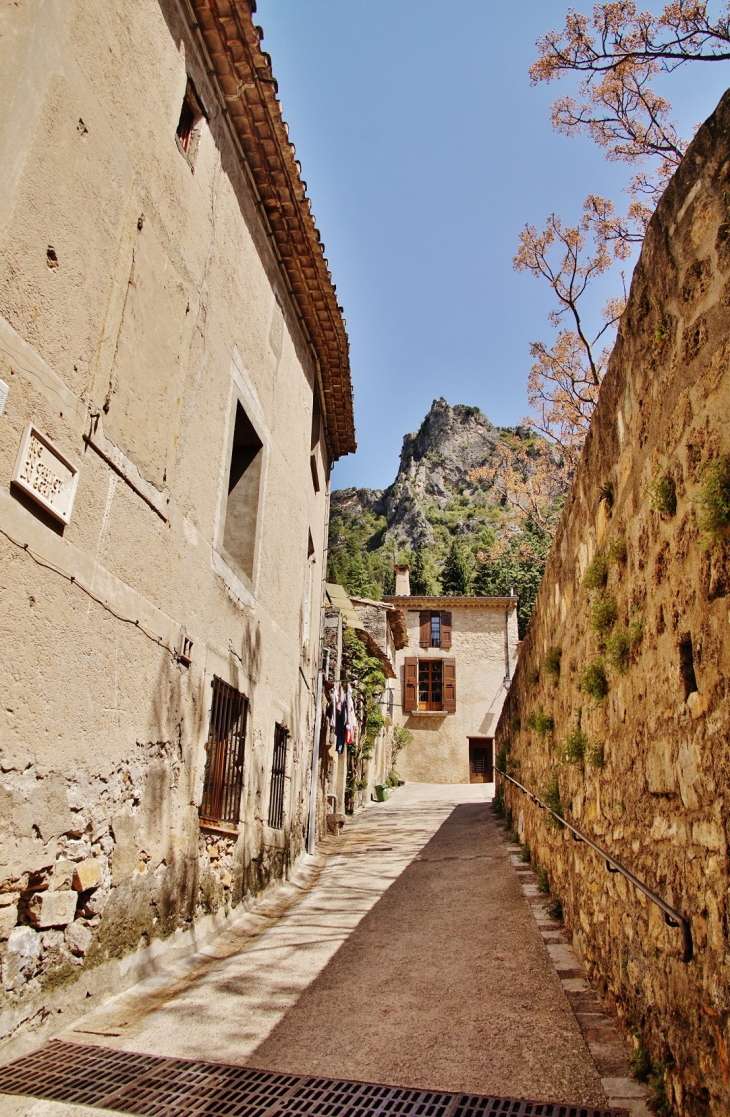
{"type": "Polygon", "coordinates": [[[305,842],[355,438],[254,7],[0,16],[0,1034],[305,842]]]}

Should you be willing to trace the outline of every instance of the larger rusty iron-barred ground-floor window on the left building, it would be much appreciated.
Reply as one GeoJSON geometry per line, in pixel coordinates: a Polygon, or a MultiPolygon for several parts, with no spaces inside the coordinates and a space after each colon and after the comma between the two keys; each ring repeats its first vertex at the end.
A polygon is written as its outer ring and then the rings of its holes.
{"type": "Polygon", "coordinates": [[[200,821],[238,825],[243,791],[243,756],[249,701],[215,676],[205,746],[205,780],[200,821]]]}

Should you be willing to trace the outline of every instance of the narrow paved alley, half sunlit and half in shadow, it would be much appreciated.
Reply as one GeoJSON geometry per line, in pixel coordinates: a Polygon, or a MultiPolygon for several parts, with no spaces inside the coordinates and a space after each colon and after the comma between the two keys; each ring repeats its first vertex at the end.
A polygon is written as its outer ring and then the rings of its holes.
{"type": "MultiPolygon", "coordinates": [[[[565,992],[585,1001],[585,982],[569,957],[566,971],[559,925],[544,915],[538,925],[545,897],[530,907],[536,887],[521,885],[487,790],[400,789],[208,948],[56,1038],[287,1076],[569,1102],[592,1115],[608,1104],[644,1111],[638,1098],[607,1097],[625,1053],[615,1038],[608,1069],[594,1061],[565,992]]],[[[69,1068],[75,1058],[66,1050],[69,1068]]],[[[9,1070],[0,1069],[0,1089],[20,1092],[9,1070]]],[[[23,1092],[78,1100],[41,1079],[23,1092]]],[[[102,1095],[84,1100],[152,1111],[102,1095]]],[[[10,1092],[0,1099],[13,1117],[76,1113],[10,1092]]]]}

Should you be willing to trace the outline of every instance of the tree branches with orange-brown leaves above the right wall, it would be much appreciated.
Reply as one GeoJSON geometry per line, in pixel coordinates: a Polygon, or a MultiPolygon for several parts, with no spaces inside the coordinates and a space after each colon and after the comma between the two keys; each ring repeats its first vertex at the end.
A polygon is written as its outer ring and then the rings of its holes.
{"type": "Polygon", "coordinates": [[[534,417],[526,421],[575,460],[606,369],[606,343],[624,303],[622,294],[606,304],[603,325],[590,337],[584,296],[594,278],[627,259],[641,242],[688,147],[676,133],[671,104],[652,82],[689,61],[729,60],[730,4],[711,19],[703,0],[671,0],[660,16],[640,11],[634,0],[604,0],[594,4],[590,17],[569,9],[564,29],[539,39],[538,51],[530,67],[532,84],[579,77],[579,98],[563,96],[553,105],[554,127],[567,135],[588,133],[608,160],[636,168],[625,216],[608,199],[592,194],[575,225],[565,226],[551,214],[539,231],[526,226],[515,257],[516,268],[546,279],[557,299],[550,315],[558,328],[555,343],[530,346],[534,417]]]}

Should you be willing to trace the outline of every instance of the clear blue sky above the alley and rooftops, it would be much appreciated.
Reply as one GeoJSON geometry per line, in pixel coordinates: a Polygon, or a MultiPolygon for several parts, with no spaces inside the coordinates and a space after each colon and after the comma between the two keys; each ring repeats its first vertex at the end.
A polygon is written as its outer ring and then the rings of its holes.
{"type": "MultiPolygon", "coordinates": [[[[403,435],[440,395],[502,426],[527,412],[528,343],[549,338],[550,299],[512,269],[520,229],[553,211],[576,220],[590,192],[621,202],[631,173],[553,132],[549,106],[574,86],[530,87],[535,40],[568,6],[259,0],[350,340],[358,450],[335,488],[388,485],[403,435]]],[[[682,134],[728,85],[727,64],[665,80],[682,134]]]]}

